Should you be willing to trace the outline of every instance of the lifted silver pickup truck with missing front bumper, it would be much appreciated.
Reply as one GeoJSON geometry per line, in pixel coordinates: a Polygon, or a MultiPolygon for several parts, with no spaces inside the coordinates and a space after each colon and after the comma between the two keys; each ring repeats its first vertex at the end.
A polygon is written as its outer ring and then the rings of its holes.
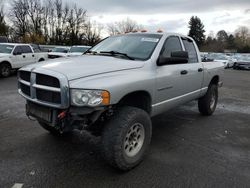
{"type": "Polygon", "coordinates": [[[212,115],[224,65],[202,63],[192,38],[169,33],[111,36],[82,57],[20,69],[26,113],[54,135],[73,129],[101,136],[104,158],[138,165],[151,140],[151,117],[198,100],[212,115]]]}

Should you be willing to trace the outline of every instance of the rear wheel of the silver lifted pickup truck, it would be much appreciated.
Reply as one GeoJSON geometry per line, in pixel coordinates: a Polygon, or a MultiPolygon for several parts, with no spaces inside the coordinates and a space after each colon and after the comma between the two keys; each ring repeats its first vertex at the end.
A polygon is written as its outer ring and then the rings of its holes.
{"type": "Polygon", "coordinates": [[[202,115],[210,116],[214,113],[218,101],[218,86],[211,84],[205,96],[198,100],[199,111],[202,115]]]}

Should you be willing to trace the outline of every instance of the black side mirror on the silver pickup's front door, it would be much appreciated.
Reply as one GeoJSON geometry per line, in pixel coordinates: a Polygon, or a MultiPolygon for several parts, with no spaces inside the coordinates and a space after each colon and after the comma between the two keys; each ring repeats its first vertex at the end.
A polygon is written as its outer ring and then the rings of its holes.
{"type": "Polygon", "coordinates": [[[188,52],[176,51],[171,53],[171,57],[160,56],[157,65],[169,65],[169,64],[185,64],[188,63],[188,52]]]}

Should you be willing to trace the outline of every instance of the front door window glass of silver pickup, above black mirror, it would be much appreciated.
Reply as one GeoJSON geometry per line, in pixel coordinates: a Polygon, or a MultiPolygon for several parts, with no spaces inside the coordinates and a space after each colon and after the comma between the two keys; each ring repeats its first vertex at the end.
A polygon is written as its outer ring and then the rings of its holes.
{"type": "Polygon", "coordinates": [[[169,37],[163,46],[161,55],[164,57],[170,57],[171,52],[182,51],[179,37],[169,37]]]}

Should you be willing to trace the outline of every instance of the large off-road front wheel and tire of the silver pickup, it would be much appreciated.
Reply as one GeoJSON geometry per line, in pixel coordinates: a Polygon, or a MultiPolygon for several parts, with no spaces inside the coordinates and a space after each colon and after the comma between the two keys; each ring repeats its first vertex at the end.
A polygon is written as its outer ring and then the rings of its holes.
{"type": "Polygon", "coordinates": [[[144,110],[129,106],[120,108],[104,127],[104,158],[120,170],[132,169],[142,161],[151,133],[151,119],[144,110]]]}

